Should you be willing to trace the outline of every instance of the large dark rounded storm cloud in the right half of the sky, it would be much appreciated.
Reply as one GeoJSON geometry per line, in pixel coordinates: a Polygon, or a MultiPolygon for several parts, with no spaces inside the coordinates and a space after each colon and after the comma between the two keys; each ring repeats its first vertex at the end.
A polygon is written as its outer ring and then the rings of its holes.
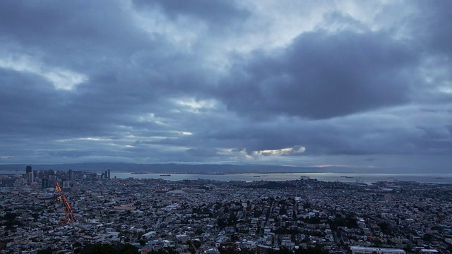
{"type": "Polygon", "coordinates": [[[280,54],[237,63],[220,97],[242,114],[344,116],[408,102],[415,61],[385,33],[307,32],[280,54]]]}

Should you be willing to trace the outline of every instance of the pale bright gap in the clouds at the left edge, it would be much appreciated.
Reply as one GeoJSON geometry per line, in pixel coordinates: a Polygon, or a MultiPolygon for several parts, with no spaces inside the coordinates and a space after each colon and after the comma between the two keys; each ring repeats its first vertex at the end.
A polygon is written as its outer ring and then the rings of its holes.
{"type": "Polygon", "coordinates": [[[44,63],[28,56],[8,56],[0,59],[0,68],[9,68],[18,72],[40,75],[48,80],[57,90],[74,90],[77,85],[88,80],[88,76],[75,71],[44,66],[44,63]]]}

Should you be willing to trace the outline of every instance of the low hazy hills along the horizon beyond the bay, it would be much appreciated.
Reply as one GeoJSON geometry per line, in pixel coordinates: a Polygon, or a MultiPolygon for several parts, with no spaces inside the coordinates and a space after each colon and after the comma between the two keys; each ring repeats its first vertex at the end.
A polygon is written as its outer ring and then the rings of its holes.
{"type": "MultiPolygon", "coordinates": [[[[359,169],[345,167],[290,167],[278,165],[234,165],[234,164],[134,164],[134,163],[72,163],[72,164],[0,164],[2,171],[24,171],[27,165],[33,170],[80,170],[80,171],[112,171],[155,173],[186,173],[186,174],[239,174],[239,173],[353,173],[359,169]]],[[[362,172],[362,171],[361,171],[362,172]]],[[[369,172],[370,173],[370,172],[369,172]]]]}

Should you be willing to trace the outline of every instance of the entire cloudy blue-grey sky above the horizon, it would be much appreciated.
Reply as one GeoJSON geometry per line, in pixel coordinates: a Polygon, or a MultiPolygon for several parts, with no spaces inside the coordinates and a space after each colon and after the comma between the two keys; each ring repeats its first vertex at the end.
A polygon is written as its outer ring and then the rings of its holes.
{"type": "Polygon", "coordinates": [[[0,164],[452,169],[452,1],[0,1],[0,164]]]}

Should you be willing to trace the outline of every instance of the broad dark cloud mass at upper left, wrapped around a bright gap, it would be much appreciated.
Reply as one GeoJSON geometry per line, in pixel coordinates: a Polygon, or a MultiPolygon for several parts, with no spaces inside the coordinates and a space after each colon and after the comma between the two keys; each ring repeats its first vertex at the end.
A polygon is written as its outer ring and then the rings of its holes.
{"type": "MultiPolygon", "coordinates": [[[[12,54],[25,52],[43,65],[89,75],[75,91],[54,90],[39,75],[17,71],[4,75],[8,85],[2,94],[4,109],[12,107],[11,114],[20,115],[8,118],[12,130],[106,135],[117,123],[135,125],[134,116],[165,107],[162,95],[177,97],[200,83],[196,64],[189,67],[194,59],[174,54],[165,38],[149,38],[138,30],[116,2],[14,1],[2,3],[0,10],[1,37],[12,54]]],[[[8,52],[4,54],[8,57],[8,52]]]]}

